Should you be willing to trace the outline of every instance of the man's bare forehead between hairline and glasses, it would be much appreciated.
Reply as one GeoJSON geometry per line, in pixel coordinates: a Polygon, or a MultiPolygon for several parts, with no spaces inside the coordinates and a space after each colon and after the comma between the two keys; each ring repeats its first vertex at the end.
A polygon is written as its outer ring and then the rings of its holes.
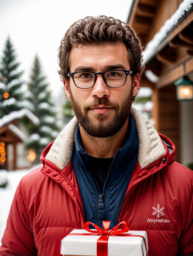
{"type": "Polygon", "coordinates": [[[123,42],[102,45],[82,45],[73,47],[69,56],[69,70],[75,72],[83,69],[105,71],[107,67],[129,69],[129,53],[123,42]]]}

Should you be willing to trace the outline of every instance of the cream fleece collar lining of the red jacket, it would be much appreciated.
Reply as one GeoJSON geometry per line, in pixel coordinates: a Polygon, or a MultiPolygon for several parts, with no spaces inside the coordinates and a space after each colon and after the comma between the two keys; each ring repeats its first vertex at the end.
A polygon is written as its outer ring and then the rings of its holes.
{"type": "MultiPolygon", "coordinates": [[[[159,134],[145,116],[133,107],[131,108],[131,115],[135,120],[139,138],[137,160],[143,169],[163,156],[166,151],[159,134]]],[[[77,124],[78,121],[76,117],[74,117],[60,132],[45,157],[61,170],[63,170],[72,159],[74,133],[77,124]]]]}

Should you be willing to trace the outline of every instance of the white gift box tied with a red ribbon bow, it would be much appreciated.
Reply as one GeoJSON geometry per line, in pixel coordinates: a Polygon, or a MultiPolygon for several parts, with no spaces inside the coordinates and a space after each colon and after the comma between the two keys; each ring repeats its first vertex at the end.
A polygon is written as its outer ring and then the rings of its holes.
{"type": "MultiPolygon", "coordinates": [[[[84,229],[74,229],[61,241],[60,253],[63,255],[97,255],[97,240],[100,235],[93,236],[84,229]],[[89,233],[89,235],[76,235],[73,233],[89,233]]],[[[146,231],[128,231],[124,234],[140,235],[145,238],[148,251],[146,231]]],[[[108,236],[108,256],[146,256],[145,242],[142,237],[137,236],[108,236]]]]}

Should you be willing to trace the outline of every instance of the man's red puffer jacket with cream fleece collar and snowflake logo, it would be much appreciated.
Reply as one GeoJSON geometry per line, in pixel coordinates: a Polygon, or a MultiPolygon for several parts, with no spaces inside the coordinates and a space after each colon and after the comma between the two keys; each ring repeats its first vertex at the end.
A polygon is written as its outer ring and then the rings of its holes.
{"type": "MultiPolygon", "coordinates": [[[[147,231],[149,256],[190,255],[192,171],[174,162],[175,147],[168,138],[137,110],[132,108],[131,114],[139,153],[118,222],[127,221],[130,230],[147,231]]],[[[84,210],[71,162],[76,125],[74,118],[44,150],[43,167],[19,183],[0,255],[59,256],[61,240],[83,228],[84,210]]]]}

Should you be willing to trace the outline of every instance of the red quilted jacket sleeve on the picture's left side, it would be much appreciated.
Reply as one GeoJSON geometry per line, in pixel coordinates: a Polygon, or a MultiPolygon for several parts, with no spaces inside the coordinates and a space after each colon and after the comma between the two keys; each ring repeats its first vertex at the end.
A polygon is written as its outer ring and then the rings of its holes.
{"type": "Polygon", "coordinates": [[[20,182],[9,211],[0,255],[37,255],[32,223],[26,211],[23,192],[20,182]]]}

